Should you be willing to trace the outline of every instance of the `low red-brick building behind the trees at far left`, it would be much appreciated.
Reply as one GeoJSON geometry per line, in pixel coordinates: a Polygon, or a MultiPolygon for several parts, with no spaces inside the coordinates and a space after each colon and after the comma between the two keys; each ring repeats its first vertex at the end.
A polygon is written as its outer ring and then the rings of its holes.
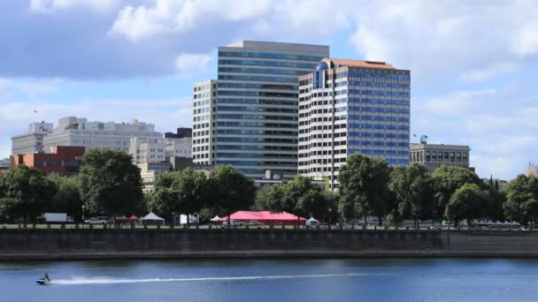
{"type": "Polygon", "coordinates": [[[57,173],[72,176],[79,172],[84,156],[84,147],[51,147],[50,153],[30,153],[12,155],[11,166],[15,169],[19,164],[41,170],[43,173],[57,173]]]}

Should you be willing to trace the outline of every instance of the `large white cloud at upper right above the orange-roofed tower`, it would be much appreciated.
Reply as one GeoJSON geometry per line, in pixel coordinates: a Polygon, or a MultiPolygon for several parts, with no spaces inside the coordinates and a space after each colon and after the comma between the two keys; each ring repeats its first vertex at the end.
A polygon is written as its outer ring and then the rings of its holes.
{"type": "Polygon", "coordinates": [[[521,55],[538,53],[532,11],[535,1],[380,0],[355,11],[350,41],[368,59],[411,69],[413,79],[455,73],[482,81],[514,71],[521,55]]]}

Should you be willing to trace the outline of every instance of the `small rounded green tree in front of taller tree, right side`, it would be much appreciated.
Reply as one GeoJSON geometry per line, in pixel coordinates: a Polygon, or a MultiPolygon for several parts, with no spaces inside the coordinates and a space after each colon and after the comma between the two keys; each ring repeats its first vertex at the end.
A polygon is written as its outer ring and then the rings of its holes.
{"type": "Polygon", "coordinates": [[[473,219],[482,217],[482,208],[487,202],[488,193],[479,185],[465,184],[450,198],[445,215],[456,224],[466,219],[467,225],[471,226],[473,219]]]}

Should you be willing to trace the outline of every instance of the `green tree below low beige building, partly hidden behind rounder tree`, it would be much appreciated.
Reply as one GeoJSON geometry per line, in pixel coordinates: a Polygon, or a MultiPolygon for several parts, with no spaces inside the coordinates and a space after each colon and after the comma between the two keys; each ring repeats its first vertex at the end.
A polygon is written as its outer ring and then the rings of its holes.
{"type": "Polygon", "coordinates": [[[462,185],[484,185],[472,171],[456,166],[441,165],[434,170],[431,177],[434,184],[434,207],[437,209],[434,217],[436,219],[442,219],[450,198],[462,185]]]}

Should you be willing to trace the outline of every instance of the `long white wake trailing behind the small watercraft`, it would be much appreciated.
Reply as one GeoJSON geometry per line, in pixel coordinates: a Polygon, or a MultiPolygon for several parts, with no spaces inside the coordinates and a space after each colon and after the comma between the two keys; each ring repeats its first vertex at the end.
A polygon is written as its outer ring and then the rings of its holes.
{"type": "Polygon", "coordinates": [[[117,283],[165,283],[165,282],[204,282],[204,281],[251,281],[251,280],[278,280],[278,279],[308,279],[308,278],[331,278],[353,277],[372,274],[325,274],[325,275],[294,275],[294,276],[226,276],[226,277],[201,277],[201,278],[152,278],[152,279],[116,279],[107,277],[73,277],[73,279],[56,279],[51,284],[81,285],[81,284],[117,284],[117,283]]]}

